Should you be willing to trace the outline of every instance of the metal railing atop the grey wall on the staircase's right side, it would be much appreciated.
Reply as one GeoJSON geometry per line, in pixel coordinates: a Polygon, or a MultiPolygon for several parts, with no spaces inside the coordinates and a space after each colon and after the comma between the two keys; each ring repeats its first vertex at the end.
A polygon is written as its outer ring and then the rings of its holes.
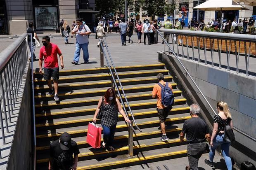
{"type": "MultiPolygon", "coordinates": [[[[160,32],[164,32],[166,41],[179,57],[243,72],[247,76],[256,75],[256,35],[175,29],[160,29],[160,32]]],[[[171,53],[170,49],[168,51],[171,53]]]]}

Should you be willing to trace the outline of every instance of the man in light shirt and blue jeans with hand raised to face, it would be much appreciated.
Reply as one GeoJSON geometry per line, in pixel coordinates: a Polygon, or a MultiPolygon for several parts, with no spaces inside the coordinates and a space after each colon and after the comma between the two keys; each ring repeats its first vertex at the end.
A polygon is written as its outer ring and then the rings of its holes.
{"type": "Polygon", "coordinates": [[[76,19],[76,26],[72,30],[72,34],[74,33],[76,33],[76,51],[74,54],[73,61],[71,63],[74,65],[78,64],[81,49],[83,50],[84,63],[88,63],[89,62],[88,35],[90,35],[91,30],[86,24],[83,24],[83,20],[81,18],[78,18],[76,19]]]}

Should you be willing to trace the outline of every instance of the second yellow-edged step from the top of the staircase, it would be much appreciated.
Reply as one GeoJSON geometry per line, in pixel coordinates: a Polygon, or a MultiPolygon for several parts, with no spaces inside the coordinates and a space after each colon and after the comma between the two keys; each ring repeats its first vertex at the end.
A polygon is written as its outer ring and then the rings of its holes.
{"type": "MultiPolygon", "coordinates": [[[[126,72],[119,73],[118,76],[122,78],[133,78],[133,77],[147,77],[147,76],[156,76],[159,73],[168,75],[168,70],[158,70],[158,71],[144,71],[144,72],[126,72]]],[[[115,75],[114,75],[115,76],[115,75]]],[[[111,74],[100,74],[100,75],[88,75],[88,76],[79,76],[79,77],[60,77],[58,83],[73,83],[73,82],[88,82],[95,80],[107,80],[111,79],[111,74]]],[[[35,85],[47,84],[45,79],[34,80],[35,85]]]]}

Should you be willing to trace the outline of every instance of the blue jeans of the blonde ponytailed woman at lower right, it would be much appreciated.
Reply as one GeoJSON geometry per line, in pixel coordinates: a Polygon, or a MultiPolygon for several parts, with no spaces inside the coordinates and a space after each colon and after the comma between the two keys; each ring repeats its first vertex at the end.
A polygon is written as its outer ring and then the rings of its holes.
{"type": "Polygon", "coordinates": [[[228,155],[229,152],[229,146],[231,142],[225,142],[223,141],[223,135],[216,135],[216,137],[213,140],[213,147],[211,148],[211,152],[209,152],[210,161],[213,162],[213,158],[215,155],[215,149],[220,146],[222,150],[222,155],[224,156],[225,163],[227,165],[228,170],[232,170],[232,161],[231,158],[228,155]]]}

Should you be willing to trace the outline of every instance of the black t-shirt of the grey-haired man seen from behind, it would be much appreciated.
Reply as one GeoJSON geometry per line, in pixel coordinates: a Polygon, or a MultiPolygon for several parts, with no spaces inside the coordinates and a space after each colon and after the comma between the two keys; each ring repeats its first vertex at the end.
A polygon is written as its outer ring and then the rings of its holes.
{"type": "Polygon", "coordinates": [[[199,117],[192,117],[185,120],[182,132],[187,134],[187,142],[205,142],[205,135],[209,133],[209,128],[205,121],[199,117]]]}

